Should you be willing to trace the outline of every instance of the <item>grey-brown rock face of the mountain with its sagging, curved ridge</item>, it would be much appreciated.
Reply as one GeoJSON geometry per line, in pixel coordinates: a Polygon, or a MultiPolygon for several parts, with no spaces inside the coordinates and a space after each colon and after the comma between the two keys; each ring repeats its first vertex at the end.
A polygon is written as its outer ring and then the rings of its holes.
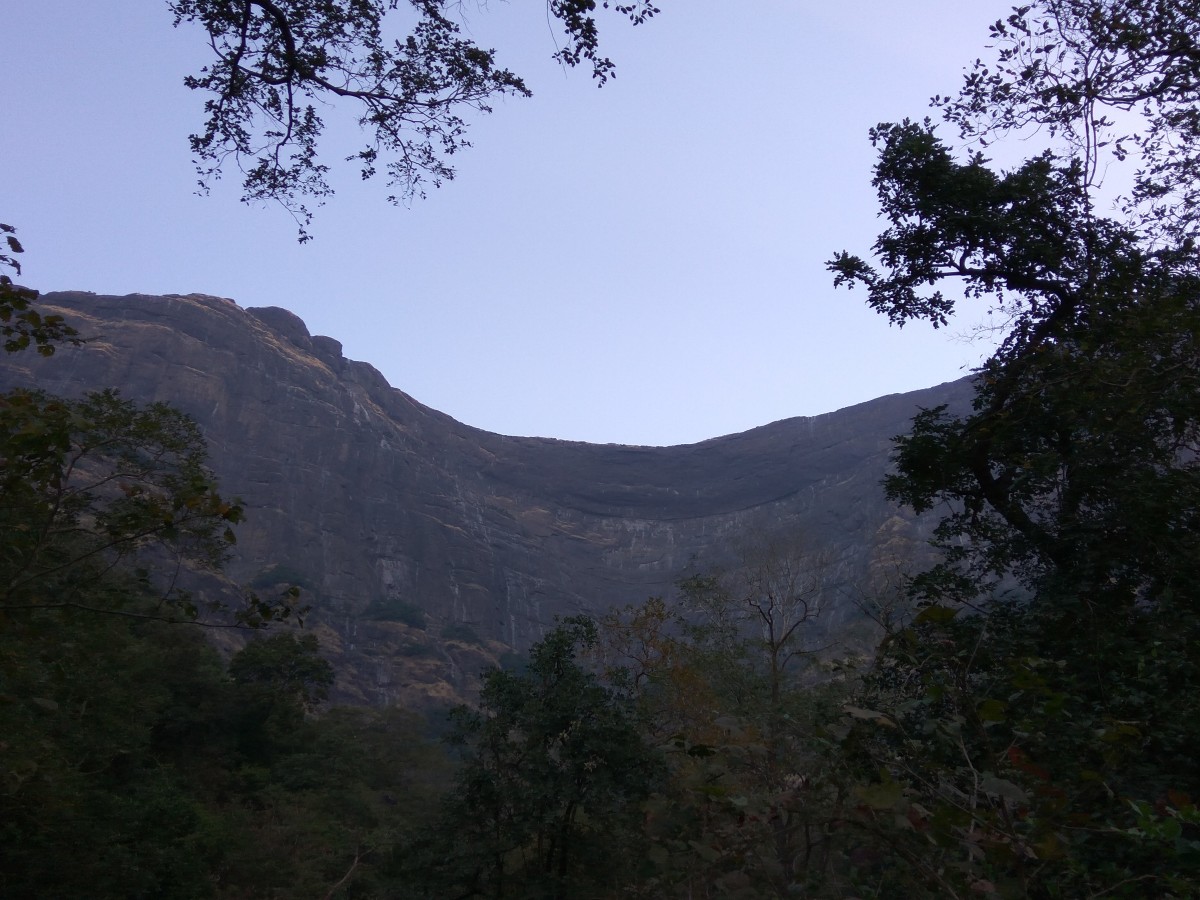
{"type": "Polygon", "coordinates": [[[925,530],[882,497],[892,437],[918,407],[967,395],[958,382],[686,446],[504,437],[421,406],[286,310],[197,294],[43,301],[94,340],[10,355],[0,386],[115,386],[193,415],[247,510],[230,574],[306,587],[331,652],[366,654],[341,685],[365,702],[403,694],[389,672],[406,648],[478,668],[488,642],[521,648],[556,614],[668,592],[697,560],[728,564],[751,530],[803,532],[847,574],[865,570],[925,530]],[[426,630],[462,638],[445,644],[457,656],[409,640],[422,613],[426,630]]]}

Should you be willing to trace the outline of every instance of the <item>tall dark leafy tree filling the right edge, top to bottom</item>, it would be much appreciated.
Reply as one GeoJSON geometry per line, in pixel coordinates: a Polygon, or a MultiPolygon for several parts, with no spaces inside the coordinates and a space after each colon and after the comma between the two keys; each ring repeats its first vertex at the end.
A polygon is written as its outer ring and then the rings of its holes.
{"type": "Polygon", "coordinates": [[[929,120],[876,127],[877,263],[829,263],[898,324],[946,324],[948,283],[1004,323],[972,412],[898,439],[888,494],[950,510],[944,559],[857,716],[862,822],[940,893],[1200,883],[1196,12],[1042,0],[996,23],[997,62],[936,102],[970,142],[1050,146],[997,172],[929,120]],[[1136,170],[1105,216],[1109,152],[1136,170]],[[896,812],[908,833],[883,836],[896,812]]]}

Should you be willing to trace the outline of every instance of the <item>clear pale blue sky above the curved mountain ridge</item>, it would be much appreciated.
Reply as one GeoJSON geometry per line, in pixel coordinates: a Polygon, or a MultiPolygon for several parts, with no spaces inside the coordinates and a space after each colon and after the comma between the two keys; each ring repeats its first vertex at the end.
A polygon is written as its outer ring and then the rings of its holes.
{"type": "MultiPolygon", "coordinates": [[[[601,11],[617,78],[552,60],[539,0],[464,30],[530,100],[472,118],[458,176],[395,208],[347,110],[313,240],[236,173],[197,194],[209,53],[155,0],[0,2],[0,222],[42,292],[282,306],[419,402],[503,434],[686,444],[966,374],[970,317],[889,326],[824,260],[881,223],[868,130],[923,118],[986,56],[990,0],[660,0],[601,11]]],[[[948,136],[948,133],[947,133],[948,136]]]]}

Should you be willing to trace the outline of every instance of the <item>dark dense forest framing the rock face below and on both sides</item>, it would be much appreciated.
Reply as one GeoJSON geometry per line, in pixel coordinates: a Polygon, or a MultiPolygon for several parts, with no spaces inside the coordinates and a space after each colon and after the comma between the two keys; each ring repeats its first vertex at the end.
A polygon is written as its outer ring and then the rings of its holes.
{"type": "MultiPolygon", "coordinates": [[[[263,92],[217,103],[210,136],[223,109],[319,88],[305,53],[370,37],[384,6],[173,4],[233,48],[224,89],[263,92]],[[258,82],[251,44],[275,48],[258,82]]],[[[551,6],[578,37],[565,61],[607,71],[596,5],[551,6]]],[[[518,89],[426,37],[445,77],[518,89]]],[[[1200,4],[1037,0],[989,46],[940,121],[872,130],[886,227],[829,260],[898,325],[985,305],[998,338],[972,410],[896,440],[881,490],[941,511],[940,556],[864,587],[872,656],[815,652],[822,559],[764,544],[672,599],[558,622],[444,720],[330,708],[302,598],[214,608],[181,577],[217,577],[252,515],[193,422],[12,391],[0,893],[1200,894],[1200,4]],[[998,144],[1040,149],[1000,169],[998,144]],[[251,640],[222,654],[230,629],[251,640]]],[[[14,283],[2,228],[5,349],[79,341],[14,283]]]]}

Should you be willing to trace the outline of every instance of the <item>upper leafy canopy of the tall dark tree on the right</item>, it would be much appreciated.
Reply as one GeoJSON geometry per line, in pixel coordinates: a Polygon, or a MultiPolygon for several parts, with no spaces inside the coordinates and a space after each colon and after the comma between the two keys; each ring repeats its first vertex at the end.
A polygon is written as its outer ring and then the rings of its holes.
{"type": "Polygon", "coordinates": [[[1090,560],[1097,584],[1141,583],[1153,559],[1189,558],[1194,524],[1200,272],[1181,191],[1200,182],[1186,66],[1200,31],[1175,4],[1105,0],[1021,7],[992,35],[995,67],[937,98],[948,121],[983,143],[1034,125],[1063,140],[996,172],[979,150],[956,158],[929,120],[878,126],[878,262],[830,262],[898,324],[943,325],[964,301],[1002,323],[974,413],[919,416],[889,491],[918,510],[953,500],[943,538],[972,536],[952,557],[979,572],[1090,560]],[[1104,113],[1134,103],[1138,128],[1104,113]],[[1104,215],[1099,155],[1124,146],[1140,151],[1134,187],[1104,215]]]}

